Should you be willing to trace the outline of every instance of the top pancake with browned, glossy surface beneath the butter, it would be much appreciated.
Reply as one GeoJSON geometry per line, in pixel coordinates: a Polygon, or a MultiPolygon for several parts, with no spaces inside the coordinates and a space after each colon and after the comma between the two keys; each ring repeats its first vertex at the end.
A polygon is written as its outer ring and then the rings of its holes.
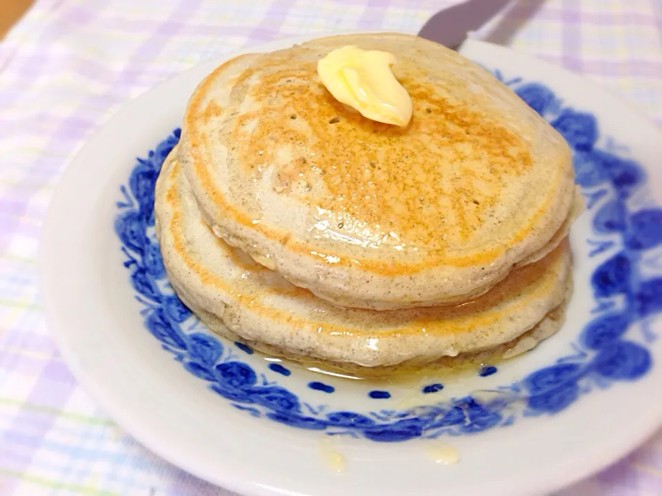
{"type": "Polygon", "coordinates": [[[343,307],[475,298],[552,251],[581,209],[561,135],[478,65],[403,34],[222,65],[190,100],[179,160],[217,236],[343,307]],[[408,127],[323,87],[317,61],[343,45],[397,56],[408,127]]]}

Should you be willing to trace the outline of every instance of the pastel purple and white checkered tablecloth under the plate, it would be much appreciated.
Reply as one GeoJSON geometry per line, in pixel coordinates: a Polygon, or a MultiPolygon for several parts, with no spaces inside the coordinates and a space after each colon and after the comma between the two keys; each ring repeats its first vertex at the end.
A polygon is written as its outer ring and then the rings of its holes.
{"type": "MultiPolygon", "coordinates": [[[[0,495],[228,494],[123,433],[77,386],[48,333],[41,223],[86,138],[123,101],[199,61],[298,34],[414,33],[452,3],[37,1],[0,43],[0,495]]],[[[475,36],[583,72],[662,124],[660,0],[519,0],[475,36]]],[[[662,495],[662,435],[563,495],[662,495]]]]}

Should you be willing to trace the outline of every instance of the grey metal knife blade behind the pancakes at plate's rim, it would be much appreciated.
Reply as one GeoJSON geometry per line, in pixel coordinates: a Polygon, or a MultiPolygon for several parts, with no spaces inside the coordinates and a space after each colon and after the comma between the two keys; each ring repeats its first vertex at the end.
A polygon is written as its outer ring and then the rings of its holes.
{"type": "Polygon", "coordinates": [[[457,49],[468,32],[492,19],[510,0],[469,0],[434,14],[419,31],[419,37],[457,49]]]}

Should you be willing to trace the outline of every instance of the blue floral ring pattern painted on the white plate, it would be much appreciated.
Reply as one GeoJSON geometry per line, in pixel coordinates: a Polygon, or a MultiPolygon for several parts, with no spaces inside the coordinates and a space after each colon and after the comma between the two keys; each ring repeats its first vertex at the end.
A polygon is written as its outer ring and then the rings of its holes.
{"type": "MultiPolygon", "coordinates": [[[[503,76],[497,70],[497,78],[503,76]]],[[[290,370],[272,366],[281,383],[269,382],[241,354],[252,354],[242,343],[230,344],[201,329],[197,318],[174,294],[165,276],[163,260],[154,237],[154,185],[161,165],[180,130],[157,145],[147,158],[138,158],[122,186],[123,200],[115,231],[126,254],[125,267],[137,299],[144,305],[146,328],[174,359],[214,393],[255,417],[265,417],[297,428],[330,434],[352,435],[374,441],[397,442],[414,437],[464,435],[512,424],[516,417],[554,414],[578,398],[614,382],[641,378],[652,366],[646,344],[628,339],[633,324],[640,323],[648,341],[646,320],[662,311],[662,278],[644,278],[643,256],[662,245],[662,209],[647,206],[631,211],[628,199],[645,181],[645,172],[634,161],[617,153],[613,143],[596,145],[599,125],[593,114],[564,106],[554,92],[540,83],[521,79],[505,81],[530,107],[541,114],[570,143],[574,152],[576,182],[583,188],[592,215],[595,238],[587,242],[590,256],[612,255],[591,276],[596,301],[594,318],[583,328],[574,353],[563,356],[528,376],[503,386],[494,395],[480,393],[452,398],[432,406],[370,413],[332,411],[327,405],[311,406],[285,387],[290,370]],[[594,207],[603,198],[602,205],[594,207]],[[620,302],[617,304],[617,302],[620,302]],[[192,322],[192,324],[191,324],[192,322]]],[[[484,375],[496,371],[485,369],[484,375]]],[[[311,389],[334,393],[337,389],[313,381],[311,389]]],[[[442,384],[425,386],[421,393],[436,393],[442,384]]],[[[368,391],[374,400],[390,397],[389,391],[368,391]]]]}

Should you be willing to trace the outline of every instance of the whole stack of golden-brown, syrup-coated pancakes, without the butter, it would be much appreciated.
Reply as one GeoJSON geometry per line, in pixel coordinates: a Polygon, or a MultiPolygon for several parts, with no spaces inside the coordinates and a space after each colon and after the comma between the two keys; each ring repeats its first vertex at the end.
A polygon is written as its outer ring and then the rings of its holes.
{"type": "Polygon", "coordinates": [[[571,287],[570,149],[505,85],[403,34],[330,37],[217,68],[155,196],[172,287],[221,335],[362,366],[530,349],[571,287]],[[397,56],[407,127],[336,101],[317,61],[397,56]]]}

